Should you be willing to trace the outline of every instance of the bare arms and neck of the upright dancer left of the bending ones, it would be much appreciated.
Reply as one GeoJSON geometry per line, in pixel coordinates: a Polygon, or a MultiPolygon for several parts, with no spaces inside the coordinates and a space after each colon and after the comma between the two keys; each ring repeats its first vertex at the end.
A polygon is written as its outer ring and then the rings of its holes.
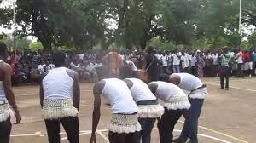
{"type": "MultiPolygon", "coordinates": [[[[61,66],[55,66],[61,67],[61,66]]],[[[46,73],[44,77],[47,75],[46,73]]],[[[78,109],[80,107],[80,86],[79,86],[79,73],[73,70],[67,69],[67,75],[73,78],[73,106],[78,109]]],[[[43,79],[44,79],[43,77],[43,79]]],[[[40,105],[43,108],[43,101],[44,101],[44,88],[43,84],[40,84],[40,105]]]]}

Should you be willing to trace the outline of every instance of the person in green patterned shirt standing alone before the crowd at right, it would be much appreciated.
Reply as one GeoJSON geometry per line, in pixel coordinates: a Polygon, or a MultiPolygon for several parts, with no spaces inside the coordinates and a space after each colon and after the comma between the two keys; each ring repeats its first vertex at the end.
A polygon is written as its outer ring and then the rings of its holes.
{"type": "Polygon", "coordinates": [[[223,54],[219,56],[220,58],[220,89],[224,89],[224,78],[226,79],[225,89],[229,89],[229,78],[230,78],[230,60],[231,55],[227,47],[224,47],[223,54]]]}

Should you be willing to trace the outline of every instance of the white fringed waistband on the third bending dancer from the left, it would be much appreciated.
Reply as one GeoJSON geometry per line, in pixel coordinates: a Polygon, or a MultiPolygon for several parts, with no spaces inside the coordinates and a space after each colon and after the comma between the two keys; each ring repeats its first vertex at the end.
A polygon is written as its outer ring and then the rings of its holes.
{"type": "Polygon", "coordinates": [[[190,106],[188,96],[172,96],[169,101],[164,104],[164,107],[169,110],[189,109],[190,106]]]}

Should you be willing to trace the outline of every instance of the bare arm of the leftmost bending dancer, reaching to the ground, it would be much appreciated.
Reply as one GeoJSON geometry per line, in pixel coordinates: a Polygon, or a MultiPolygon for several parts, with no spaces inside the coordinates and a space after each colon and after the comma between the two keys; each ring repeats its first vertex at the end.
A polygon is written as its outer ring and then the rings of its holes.
{"type": "Polygon", "coordinates": [[[96,128],[101,117],[101,94],[104,89],[105,81],[101,80],[93,87],[94,94],[94,109],[92,114],[92,131],[90,136],[90,143],[96,143],[96,128]]]}

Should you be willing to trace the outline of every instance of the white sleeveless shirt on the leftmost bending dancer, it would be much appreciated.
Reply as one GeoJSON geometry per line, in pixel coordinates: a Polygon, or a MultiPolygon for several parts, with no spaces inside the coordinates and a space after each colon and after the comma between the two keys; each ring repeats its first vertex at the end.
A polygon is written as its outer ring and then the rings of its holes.
{"type": "Polygon", "coordinates": [[[105,82],[102,96],[107,98],[112,106],[112,113],[132,114],[138,112],[126,83],[118,78],[103,79],[105,82]]]}

